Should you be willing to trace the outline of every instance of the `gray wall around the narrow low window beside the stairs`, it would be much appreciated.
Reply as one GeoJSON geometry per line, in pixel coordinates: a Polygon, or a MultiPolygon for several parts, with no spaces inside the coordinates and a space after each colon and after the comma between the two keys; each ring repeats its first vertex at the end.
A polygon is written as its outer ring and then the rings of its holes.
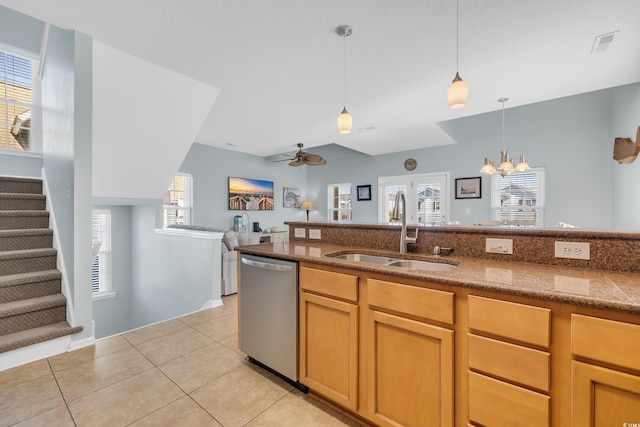
{"type": "Polygon", "coordinates": [[[96,338],[132,329],[131,206],[94,206],[111,210],[111,286],[114,297],[93,301],[96,338]]]}

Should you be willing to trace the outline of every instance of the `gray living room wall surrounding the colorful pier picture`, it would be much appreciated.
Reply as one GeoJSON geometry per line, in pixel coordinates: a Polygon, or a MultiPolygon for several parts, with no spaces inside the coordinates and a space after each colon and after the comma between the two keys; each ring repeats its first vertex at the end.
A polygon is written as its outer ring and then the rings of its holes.
{"type": "Polygon", "coordinates": [[[230,176],[274,182],[275,209],[247,212],[251,222],[260,222],[261,228],[283,228],[284,221],[305,219],[303,211],[282,207],[282,189],[297,186],[304,199],[309,167],[291,167],[288,162],[273,162],[281,158],[285,157],[262,158],[193,144],[180,166],[180,172],[193,175],[193,223],[222,229],[233,228],[233,217],[242,212],[228,210],[227,180],[230,176]]]}

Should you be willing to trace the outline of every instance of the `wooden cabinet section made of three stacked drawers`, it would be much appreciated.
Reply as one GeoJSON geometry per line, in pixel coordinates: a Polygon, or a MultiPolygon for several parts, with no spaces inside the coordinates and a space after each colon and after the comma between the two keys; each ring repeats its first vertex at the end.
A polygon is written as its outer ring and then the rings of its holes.
{"type": "Polygon", "coordinates": [[[469,295],[468,316],[469,421],[549,426],[551,310],[469,295]]]}

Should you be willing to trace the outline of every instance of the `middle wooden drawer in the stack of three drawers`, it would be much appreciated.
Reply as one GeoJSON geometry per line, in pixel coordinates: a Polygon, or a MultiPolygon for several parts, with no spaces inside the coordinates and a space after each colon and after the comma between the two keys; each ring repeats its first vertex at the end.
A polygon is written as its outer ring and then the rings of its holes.
{"type": "Polygon", "coordinates": [[[550,355],[490,338],[469,335],[469,368],[549,392],[550,355]]]}

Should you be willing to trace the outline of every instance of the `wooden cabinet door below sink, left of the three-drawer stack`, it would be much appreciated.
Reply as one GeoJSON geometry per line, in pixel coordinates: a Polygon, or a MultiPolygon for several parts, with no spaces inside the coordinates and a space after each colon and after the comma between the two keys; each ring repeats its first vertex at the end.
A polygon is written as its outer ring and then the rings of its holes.
{"type": "Polygon", "coordinates": [[[453,425],[453,331],[369,311],[369,417],[380,426],[453,425]]]}

